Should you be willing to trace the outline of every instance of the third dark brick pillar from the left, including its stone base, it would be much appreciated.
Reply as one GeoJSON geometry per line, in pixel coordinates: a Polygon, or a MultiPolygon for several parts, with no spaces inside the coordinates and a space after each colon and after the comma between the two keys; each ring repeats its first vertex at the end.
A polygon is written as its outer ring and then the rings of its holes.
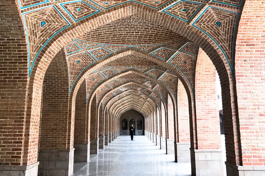
{"type": "MultiPolygon", "coordinates": [[[[86,81],[86,80],[85,80],[86,81]]],[[[87,116],[86,82],[78,89],[74,115],[74,162],[89,162],[90,138],[88,129],[90,121],[87,116]]]]}

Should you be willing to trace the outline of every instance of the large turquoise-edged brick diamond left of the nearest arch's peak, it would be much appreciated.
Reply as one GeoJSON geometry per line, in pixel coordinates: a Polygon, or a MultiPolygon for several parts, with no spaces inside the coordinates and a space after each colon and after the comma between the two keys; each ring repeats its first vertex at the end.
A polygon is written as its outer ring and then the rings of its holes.
{"type": "Polygon", "coordinates": [[[60,5],[75,22],[100,12],[99,9],[87,4],[84,1],[66,2],[61,3],[60,5]]]}

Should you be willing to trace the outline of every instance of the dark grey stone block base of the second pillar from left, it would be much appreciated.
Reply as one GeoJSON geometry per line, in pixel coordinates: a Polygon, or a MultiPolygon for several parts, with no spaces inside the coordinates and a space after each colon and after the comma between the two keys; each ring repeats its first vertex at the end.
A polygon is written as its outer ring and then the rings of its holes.
{"type": "Polygon", "coordinates": [[[70,150],[40,150],[38,175],[70,176],[74,168],[74,148],[70,150]]]}

